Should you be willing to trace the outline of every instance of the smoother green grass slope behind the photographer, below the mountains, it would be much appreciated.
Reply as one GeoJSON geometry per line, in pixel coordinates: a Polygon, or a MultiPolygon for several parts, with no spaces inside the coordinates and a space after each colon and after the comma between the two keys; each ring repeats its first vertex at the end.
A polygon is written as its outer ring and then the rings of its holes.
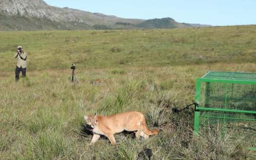
{"type": "MultiPolygon", "coordinates": [[[[21,45],[30,70],[245,63],[256,60],[256,26],[173,30],[0,32],[1,71],[21,45]],[[241,59],[243,57],[243,59],[241,59]]],[[[10,65],[9,65],[10,64],[10,65]]]]}

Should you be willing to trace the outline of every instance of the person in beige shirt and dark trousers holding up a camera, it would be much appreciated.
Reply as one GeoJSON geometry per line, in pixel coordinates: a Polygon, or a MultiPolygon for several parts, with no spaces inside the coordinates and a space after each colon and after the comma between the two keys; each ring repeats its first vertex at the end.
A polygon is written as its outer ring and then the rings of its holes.
{"type": "Polygon", "coordinates": [[[27,55],[23,51],[21,46],[18,46],[17,52],[14,55],[14,58],[17,59],[17,66],[15,69],[15,80],[18,81],[20,77],[20,73],[22,73],[22,77],[26,77],[26,70],[27,70],[27,55]]]}

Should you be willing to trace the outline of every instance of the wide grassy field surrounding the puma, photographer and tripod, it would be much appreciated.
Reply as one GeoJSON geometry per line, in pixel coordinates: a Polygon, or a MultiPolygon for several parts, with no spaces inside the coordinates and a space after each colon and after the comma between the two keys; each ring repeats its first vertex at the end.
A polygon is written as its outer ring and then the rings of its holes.
{"type": "Polygon", "coordinates": [[[208,70],[256,72],[256,26],[173,30],[0,32],[0,159],[255,159],[240,139],[192,136],[195,80],[208,70]],[[16,47],[27,78],[15,83],[16,47]],[[77,63],[78,84],[70,84],[77,63]],[[98,86],[91,80],[102,80],[98,86]],[[83,115],[144,113],[159,135],[132,133],[90,146],[83,115]]]}

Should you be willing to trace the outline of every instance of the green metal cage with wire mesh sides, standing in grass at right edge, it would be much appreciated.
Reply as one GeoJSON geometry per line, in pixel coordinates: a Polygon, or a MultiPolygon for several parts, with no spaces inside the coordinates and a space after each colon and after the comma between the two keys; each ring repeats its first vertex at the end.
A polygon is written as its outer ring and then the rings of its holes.
{"type": "Polygon", "coordinates": [[[256,149],[256,74],[208,71],[196,81],[194,132],[218,128],[256,149]]]}

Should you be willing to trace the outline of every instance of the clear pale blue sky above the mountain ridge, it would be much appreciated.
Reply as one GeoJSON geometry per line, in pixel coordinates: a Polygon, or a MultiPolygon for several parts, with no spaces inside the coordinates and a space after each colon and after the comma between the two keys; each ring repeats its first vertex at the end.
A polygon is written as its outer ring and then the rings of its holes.
{"type": "Polygon", "coordinates": [[[122,18],[171,17],[213,26],[256,24],[256,0],[44,0],[48,5],[122,18]]]}

